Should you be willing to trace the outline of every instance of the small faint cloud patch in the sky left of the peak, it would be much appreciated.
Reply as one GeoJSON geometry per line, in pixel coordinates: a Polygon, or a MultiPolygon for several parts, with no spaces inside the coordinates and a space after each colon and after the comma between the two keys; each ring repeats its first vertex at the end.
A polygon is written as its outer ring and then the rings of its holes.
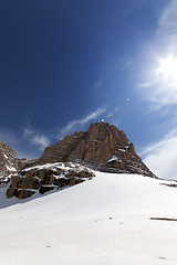
{"type": "Polygon", "coordinates": [[[46,136],[38,134],[29,126],[25,127],[23,131],[25,140],[28,140],[31,145],[38,146],[41,150],[51,144],[51,140],[46,136]]]}

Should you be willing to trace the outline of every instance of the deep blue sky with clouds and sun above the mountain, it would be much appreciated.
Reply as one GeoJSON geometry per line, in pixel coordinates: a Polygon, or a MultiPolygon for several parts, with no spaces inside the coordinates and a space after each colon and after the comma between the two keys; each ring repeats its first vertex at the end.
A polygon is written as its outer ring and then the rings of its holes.
{"type": "Polygon", "coordinates": [[[2,0],[0,30],[0,139],[19,157],[104,119],[175,176],[177,0],[2,0]]]}

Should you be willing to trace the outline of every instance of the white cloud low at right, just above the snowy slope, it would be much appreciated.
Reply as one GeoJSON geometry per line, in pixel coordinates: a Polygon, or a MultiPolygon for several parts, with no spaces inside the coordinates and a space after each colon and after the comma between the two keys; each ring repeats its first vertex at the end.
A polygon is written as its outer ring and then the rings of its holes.
{"type": "Polygon", "coordinates": [[[177,129],[168,132],[158,142],[146,147],[140,156],[159,178],[177,180],[177,129]]]}

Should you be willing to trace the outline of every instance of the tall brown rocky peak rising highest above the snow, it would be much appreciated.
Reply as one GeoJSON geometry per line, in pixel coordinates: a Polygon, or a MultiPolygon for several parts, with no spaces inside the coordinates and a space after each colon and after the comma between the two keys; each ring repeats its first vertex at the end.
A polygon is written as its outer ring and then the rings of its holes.
{"type": "Polygon", "coordinates": [[[86,132],[74,132],[48,147],[39,163],[84,162],[103,172],[139,173],[155,177],[136,155],[126,135],[107,123],[92,124],[86,132]]]}

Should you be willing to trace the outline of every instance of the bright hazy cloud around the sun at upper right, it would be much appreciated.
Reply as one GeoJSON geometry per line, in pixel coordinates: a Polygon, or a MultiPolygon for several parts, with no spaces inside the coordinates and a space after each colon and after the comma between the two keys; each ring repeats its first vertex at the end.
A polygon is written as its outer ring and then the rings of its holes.
{"type": "Polygon", "coordinates": [[[177,0],[169,1],[162,11],[155,39],[154,45],[160,44],[160,49],[149,54],[154,63],[139,85],[144,97],[153,103],[153,110],[177,104],[177,0]]]}

